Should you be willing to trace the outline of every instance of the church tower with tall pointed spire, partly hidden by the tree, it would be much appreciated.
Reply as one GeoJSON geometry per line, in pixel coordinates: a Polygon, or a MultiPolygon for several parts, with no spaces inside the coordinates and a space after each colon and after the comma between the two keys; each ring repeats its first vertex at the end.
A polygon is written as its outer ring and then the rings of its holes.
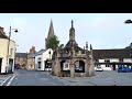
{"type": "Polygon", "coordinates": [[[45,38],[45,50],[47,50],[47,46],[46,46],[46,45],[47,45],[48,40],[50,40],[52,36],[54,36],[54,28],[53,28],[53,21],[51,20],[47,38],[45,38]]]}

